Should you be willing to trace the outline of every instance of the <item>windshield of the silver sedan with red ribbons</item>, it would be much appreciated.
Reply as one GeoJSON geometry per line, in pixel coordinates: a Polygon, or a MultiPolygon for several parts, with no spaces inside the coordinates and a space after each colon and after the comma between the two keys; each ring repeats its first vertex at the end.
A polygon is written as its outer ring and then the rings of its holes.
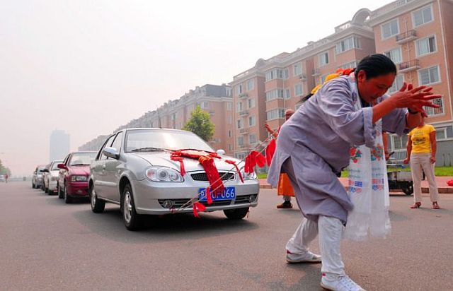
{"type": "Polygon", "coordinates": [[[188,131],[169,131],[165,129],[127,131],[125,152],[162,149],[180,150],[183,148],[214,151],[200,137],[188,131]]]}

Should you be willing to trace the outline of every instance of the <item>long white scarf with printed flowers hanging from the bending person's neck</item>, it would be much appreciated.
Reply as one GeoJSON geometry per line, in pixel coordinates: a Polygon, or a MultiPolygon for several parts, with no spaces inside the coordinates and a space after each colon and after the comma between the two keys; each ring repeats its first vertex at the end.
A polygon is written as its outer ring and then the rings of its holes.
{"type": "MultiPolygon", "coordinates": [[[[353,80],[353,76],[352,76],[353,80]]],[[[356,93],[355,109],[362,108],[357,85],[351,82],[356,93]]],[[[366,240],[384,238],[391,231],[389,219],[389,182],[382,141],[382,120],[375,126],[374,148],[352,145],[350,149],[348,195],[354,209],[348,213],[343,237],[366,240]]]]}

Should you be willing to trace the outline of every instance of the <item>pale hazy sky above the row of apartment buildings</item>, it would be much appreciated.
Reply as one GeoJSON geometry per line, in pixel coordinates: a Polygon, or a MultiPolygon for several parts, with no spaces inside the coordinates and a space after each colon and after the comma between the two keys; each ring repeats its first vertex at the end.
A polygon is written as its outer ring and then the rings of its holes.
{"type": "Polygon", "coordinates": [[[0,0],[0,159],[31,174],[54,129],[76,150],[389,2],[0,0]]]}

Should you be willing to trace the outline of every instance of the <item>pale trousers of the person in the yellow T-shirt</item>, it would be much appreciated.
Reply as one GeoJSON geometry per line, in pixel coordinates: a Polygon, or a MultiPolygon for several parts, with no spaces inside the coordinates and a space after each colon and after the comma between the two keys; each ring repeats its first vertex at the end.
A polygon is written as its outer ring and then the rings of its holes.
{"type": "Polygon", "coordinates": [[[411,171],[413,180],[413,199],[415,202],[422,201],[421,177],[422,169],[430,185],[431,202],[438,201],[439,192],[437,191],[436,177],[434,174],[434,164],[430,160],[431,153],[411,154],[411,171]]]}

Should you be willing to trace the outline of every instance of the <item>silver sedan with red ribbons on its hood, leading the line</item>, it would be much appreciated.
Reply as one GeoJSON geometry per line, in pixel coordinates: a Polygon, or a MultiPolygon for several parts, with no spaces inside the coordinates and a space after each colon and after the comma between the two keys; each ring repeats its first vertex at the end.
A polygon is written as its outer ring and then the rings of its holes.
{"type": "MultiPolygon", "coordinates": [[[[105,203],[120,205],[128,230],[137,230],[142,215],[164,215],[178,210],[191,213],[191,198],[199,196],[206,212],[223,210],[227,218],[242,219],[249,207],[258,205],[259,184],[256,174],[241,171],[242,183],[234,166],[225,160],[243,162],[222,155],[214,159],[224,182],[225,191],[212,204],[204,202],[210,183],[198,160],[183,158],[185,175],[180,174],[180,162],[171,160],[172,150],[214,150],[195,133],[174,129],[124,129],[109,136],[91,163],[89,191],[91,210],[101,213],[105,203]]],[[[223,150],[218,151],[224,153],[223,150]]]]}

